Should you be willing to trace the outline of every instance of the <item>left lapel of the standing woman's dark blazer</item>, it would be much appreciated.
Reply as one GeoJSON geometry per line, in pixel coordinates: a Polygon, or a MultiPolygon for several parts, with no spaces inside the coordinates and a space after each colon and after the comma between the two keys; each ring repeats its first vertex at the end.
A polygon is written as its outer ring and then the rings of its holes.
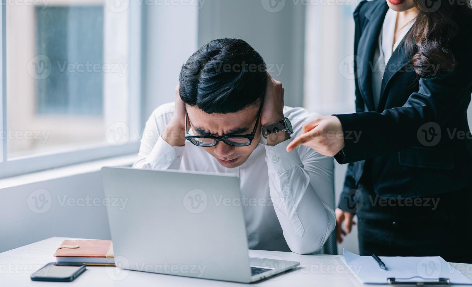
{"type": "Polygon", "coordinates": [[[388,5],[385,1],[378,1],[366,13],[367,24],[362,30],[361,38],[357,47],[357,82],[364,103],[369,111],[375,111],[374,98],[372,95],[372,68],[375,49],[379,44],[379,34],[382,29],[388,5]]]}

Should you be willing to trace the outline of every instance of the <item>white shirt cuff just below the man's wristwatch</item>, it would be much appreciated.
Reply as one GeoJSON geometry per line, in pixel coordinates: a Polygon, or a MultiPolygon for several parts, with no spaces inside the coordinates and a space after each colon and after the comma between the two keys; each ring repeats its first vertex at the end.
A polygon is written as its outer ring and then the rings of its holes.
{"type": "Polygon", "coordinates": [[[276,146],[265,146],[269,171],[273,170],[279,174],[297,165],[303,165],[296,151],[287,152],[287,146],[292,140],[293,139],[287,139],[276,146]]]}

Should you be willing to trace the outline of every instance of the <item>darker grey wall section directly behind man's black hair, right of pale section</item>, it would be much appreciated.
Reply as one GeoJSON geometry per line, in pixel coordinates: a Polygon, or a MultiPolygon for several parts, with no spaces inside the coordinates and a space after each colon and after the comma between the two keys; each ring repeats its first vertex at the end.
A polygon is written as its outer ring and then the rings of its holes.
{"type": "Polygon", "coordinates": [[[260,0],[206,0],[198,14],[198,46],[218,38],[239,38],[258,51],[274,79],[285,87],[285,104],[303,103],[305,7],[285,1],[270,12],[260,0]]]}

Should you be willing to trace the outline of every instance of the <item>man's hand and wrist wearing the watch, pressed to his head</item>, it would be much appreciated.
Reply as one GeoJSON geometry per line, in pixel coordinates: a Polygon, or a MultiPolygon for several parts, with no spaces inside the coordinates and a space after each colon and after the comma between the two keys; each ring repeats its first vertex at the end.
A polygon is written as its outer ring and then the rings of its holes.
{"type": "MultiPolygon", "coordinates": [[[[263,126],[276,123],[284,118],[284,92],[282,83],[274,80],[267,73],[267,87],[261,112],[263,126]]],[[[280,131],[267,137],[267,145],[275,146],[287,139],[290,139],[290,135],[285,131],[280,131]]]]}

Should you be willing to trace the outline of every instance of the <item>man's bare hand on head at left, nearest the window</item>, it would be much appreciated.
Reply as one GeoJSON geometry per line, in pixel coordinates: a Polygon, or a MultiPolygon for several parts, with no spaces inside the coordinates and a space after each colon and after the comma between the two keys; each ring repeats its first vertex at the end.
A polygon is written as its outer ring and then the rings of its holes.
{"type": "Polygon", "coordinates": [[[185,103],[180,98],[178,90],[179,85],[177,84],[174,115],[162,134],[162,139],[173,147],[182,147],[185,145],[185,103]]]}

